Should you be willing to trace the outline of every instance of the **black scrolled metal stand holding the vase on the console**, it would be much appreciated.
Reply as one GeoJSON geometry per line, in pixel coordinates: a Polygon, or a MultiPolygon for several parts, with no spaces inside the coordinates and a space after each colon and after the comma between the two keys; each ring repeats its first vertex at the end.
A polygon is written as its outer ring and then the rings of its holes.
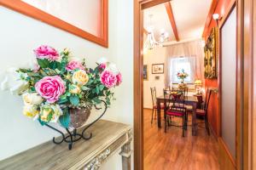
{"type": "Polygon", "coordinates": [[[92,133],[90,133],[89,136],[85,136],[86,130],[87,130],[90,126],[92,126],[94,123],[96,123],[98,120],[100,120],[100,119],[102,118],[102,116],[105,114],[105,112],[107,111],[107,108],[108,108],[106,102],[103,101],[103,100],[101,100],[101,101],[102,101],[102,103],[104,104],[104,107],[105,107],[105,108],[102,108],[102,107],[99,108],[99,107],[97,107],[97,106],[95,105],[96,110],[102,110],[102,109],[103,109],[103,112],[102,112],[101,116],[99,116],[98,118],[96,118],[96,120],[95,120],[94,122],[91,122],[89,125],[85,126],[85,127],[84,127],[84,130],[82,131],[82,133],[78,133],[76,128],[74,128],[72,132],[71,132],[68,128],[66,128],[66,130],[67,130],[67,135],[65,135],[64,133],[62,133],[60,130],[56,129],[55,127],[52,127],[52,126],[50,126],[49,124],[45,124],[45,126],[47,126],[47,127],[51,128],[51,129],[55,130],[55,131],[58,132],[58,133],[61,133],[62,139],[61,139],[60,141],[56,141],[56,140],[55,140],[55,137],[54,137],[54,138],[52,139],[53,143],[55,143],[55,144],[61,144],[62,142],[66,142],[66,143],[68,143],[68,149],[71,150],[73,143],[79,141],[79,139],[84,139],[84,140],[89,140],[89,139],[91,139],[92,133]]]}

